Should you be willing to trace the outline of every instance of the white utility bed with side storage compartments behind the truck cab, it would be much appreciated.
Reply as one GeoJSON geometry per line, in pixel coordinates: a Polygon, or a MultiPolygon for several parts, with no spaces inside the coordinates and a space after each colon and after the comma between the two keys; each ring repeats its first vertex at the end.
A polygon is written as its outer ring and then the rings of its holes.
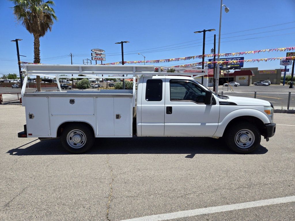
{"type": "Polygon", "coordinates": [[[132,90],[35,92],[23,97],[30,137],[56,137],[60,124],[71,121],[89,123],[96,137],[132,136],[132,90]]]}

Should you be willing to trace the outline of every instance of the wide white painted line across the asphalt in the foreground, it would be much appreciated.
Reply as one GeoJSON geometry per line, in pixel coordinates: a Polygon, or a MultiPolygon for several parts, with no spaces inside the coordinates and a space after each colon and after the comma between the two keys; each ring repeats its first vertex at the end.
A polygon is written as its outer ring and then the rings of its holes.
{"type": "Polygon", "coordinates": [[[295,202],[295,196],[273,198],[273,199],[264,199],[264,200],[245,202],[245,203],[237,203],[237,204],[224,205],[224,206],[207,207],[207,208],[201,208],[201,209],[196,209],[196,210],[186,210],[186,211],[144,216],[144,217],[133,218],[133,219],[128,219],[128,220],[121,220],[121,221],[171,220],[171,219],[176,219],[176,218],[190,217],[190,216],[209,214],[209,213],[215,213],[215,212],[225,212],[225,211],[230,211],[230,210],[240,210],[240,209],[246,209],[246,208],[252,208],[252,207],[268,206],[268,205],[287,203],[287,202],[295,202]]]}

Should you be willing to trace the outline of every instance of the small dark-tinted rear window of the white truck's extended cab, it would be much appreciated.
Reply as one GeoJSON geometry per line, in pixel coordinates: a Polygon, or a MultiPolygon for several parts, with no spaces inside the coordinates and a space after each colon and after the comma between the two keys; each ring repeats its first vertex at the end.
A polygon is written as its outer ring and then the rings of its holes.
{"type": "Polygon", "coordinates": [[[163,81],[160,79],[149,79],[146,82],[145,100],[161,101],[162,100],[163,81]]]}

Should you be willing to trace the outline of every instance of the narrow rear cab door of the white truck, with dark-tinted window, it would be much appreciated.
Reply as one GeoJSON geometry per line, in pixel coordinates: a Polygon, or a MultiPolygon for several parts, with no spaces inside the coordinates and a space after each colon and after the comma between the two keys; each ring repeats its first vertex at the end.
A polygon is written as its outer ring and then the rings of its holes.
{"type": "Polygon", "coordinates": [[[141,129],[141,136],[164,136],[165,77],[143,77],[141,104],[138,103],[141,119],[137,130],[141,129]]]}

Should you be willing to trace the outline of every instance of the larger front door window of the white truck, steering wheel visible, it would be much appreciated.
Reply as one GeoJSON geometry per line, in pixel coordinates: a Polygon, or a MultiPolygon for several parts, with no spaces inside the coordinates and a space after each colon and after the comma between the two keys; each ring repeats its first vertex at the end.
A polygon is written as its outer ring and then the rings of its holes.
{"type": "Polygon", "coordinates": [[[170,100],[204,103],[205,90],[188,80],[170,80],[170,100]]]}

